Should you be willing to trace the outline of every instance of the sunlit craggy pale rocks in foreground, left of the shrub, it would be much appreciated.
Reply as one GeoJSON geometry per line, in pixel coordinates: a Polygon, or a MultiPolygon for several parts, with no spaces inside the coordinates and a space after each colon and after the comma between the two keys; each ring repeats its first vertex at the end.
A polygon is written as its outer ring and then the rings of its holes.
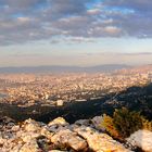
{"type": "Polygon", "coordinates": [[[102,132],[101,117],[69,125],[59,117],[48,125],[26,119],[0,119],[0,152],[129,152],[122,143],[102,132]]]}

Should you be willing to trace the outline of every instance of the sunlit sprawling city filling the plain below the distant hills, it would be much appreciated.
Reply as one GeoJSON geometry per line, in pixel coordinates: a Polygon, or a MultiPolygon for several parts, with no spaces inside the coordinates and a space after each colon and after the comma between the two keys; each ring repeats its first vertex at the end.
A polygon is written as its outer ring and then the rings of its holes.
{"type": "Polygon", "coordinates": [[[100,99],[152,81],[152,66],[113,73],[0,74],[0,102],[30,106],[100,99]]]}

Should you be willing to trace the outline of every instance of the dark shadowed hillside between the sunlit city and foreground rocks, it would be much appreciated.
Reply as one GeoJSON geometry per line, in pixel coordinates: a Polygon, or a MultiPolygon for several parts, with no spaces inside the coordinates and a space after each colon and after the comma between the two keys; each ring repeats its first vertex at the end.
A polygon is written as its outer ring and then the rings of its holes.
{"type": "Polygon", "coordinates": [[[141,111],[147,118],[152,119],[152,84],[144,87],[130,87],[118,93],[104,96],[102,99],[88,100],[83,102],[66,103],[64,106],[41,106],[18,107],[17,105],[1,104],[1,115],[24,121],[28,117],[41,122],[49,122],[58,116],[63,116],[69,123],[77,119],[90,118],[103,113],[112,115],[115,109],[126,106],[131,111],[141,111]],[[38,113],[33,113],[37,111],[38,113]]]}

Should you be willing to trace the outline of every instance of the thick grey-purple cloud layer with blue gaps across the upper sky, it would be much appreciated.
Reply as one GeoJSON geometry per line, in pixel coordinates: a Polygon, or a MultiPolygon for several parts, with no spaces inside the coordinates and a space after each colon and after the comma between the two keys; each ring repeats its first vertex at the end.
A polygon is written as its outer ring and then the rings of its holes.
{"type": "Polygon", "coordinates": [[[150,0],[0,0],[0,45],[152,37],[150,0]]]}

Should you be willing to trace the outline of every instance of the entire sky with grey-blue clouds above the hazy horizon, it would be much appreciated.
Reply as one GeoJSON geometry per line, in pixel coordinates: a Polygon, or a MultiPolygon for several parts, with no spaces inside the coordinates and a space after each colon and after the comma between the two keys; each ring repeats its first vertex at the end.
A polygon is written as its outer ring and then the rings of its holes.
{"type": "Polygon", "coordinates": [[[0,0],[0,66],[151,63],[151,0],[0,0]]]}

